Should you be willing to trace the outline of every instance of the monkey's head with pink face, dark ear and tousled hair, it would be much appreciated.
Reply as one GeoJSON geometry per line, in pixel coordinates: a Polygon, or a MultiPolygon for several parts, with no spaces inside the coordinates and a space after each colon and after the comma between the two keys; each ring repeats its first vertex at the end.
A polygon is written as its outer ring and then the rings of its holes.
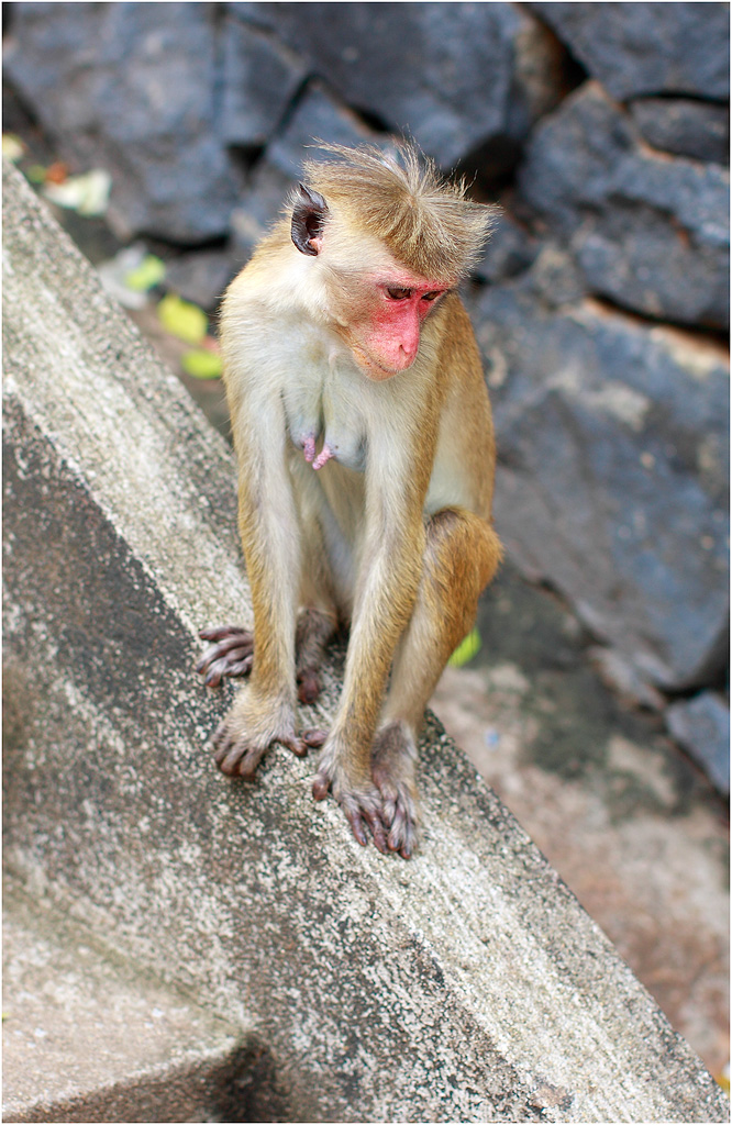
{"type": "Polygon", "coordinates": [[[411,145],[323,146],[291,201],[292,240],[313,259],[331,327],[365,375],[389,379],[417,359],[421,328],[474,263],[494,208],[465,199],[411,145]]]}

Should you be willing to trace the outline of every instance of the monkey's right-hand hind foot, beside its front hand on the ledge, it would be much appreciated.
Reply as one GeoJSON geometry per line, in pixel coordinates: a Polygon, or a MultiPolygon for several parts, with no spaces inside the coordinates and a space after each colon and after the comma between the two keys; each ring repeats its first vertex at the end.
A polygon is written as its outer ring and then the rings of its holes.
{"type": "Polygon", "coordinates": [[[392,722],[374,739],[372,768],[382,795],[386,844],[409,860],[417,845],[419,811],[414,767],[417,746],[401,722],[392,722]]]}

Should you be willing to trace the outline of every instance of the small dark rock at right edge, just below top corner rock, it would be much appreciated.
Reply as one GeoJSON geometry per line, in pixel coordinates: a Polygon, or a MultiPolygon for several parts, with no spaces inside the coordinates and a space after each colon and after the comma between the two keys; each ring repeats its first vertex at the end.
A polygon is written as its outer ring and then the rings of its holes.
{"type": "Polygon", "coordinates": [[[689,160],[729,165],[727,106],[689,98],[636,98],[628,109],[639,130],[654,148],[689,160]]]}

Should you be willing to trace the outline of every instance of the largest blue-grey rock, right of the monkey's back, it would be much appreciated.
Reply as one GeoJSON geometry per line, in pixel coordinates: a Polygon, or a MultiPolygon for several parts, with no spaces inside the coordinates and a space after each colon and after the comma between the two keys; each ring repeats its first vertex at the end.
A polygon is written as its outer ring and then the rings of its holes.
{"type": "Polygon", "coordinates": [[[688,686],[727,612],[721,349],[591,303],[556,310],[542,258],[474,309],[496,408],[497,525],[645,683],[688,686]]]}

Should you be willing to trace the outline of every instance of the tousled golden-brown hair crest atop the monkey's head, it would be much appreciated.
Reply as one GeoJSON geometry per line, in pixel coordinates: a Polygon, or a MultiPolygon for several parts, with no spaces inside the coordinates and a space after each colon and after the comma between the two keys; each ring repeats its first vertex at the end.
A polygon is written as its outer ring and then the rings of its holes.
{"type": "Polygon", "coordinates": [[[307,161],[305,183],[346,219],[386,244],[408,269],[455,284],[470,272],[497,208],[465,198],[463,179],[441,176],[416,144],[392,152],[373,145],[319,144],[330,159],[307,161]]]}

